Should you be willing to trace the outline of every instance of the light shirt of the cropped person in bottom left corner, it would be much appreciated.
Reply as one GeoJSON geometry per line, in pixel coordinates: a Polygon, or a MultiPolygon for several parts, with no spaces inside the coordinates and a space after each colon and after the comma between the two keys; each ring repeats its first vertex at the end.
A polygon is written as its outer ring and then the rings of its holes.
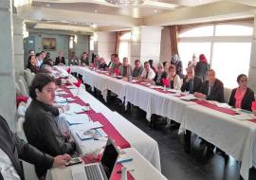
{"type": "Polygon", "coordinates": [[[20,180],[20,176],[13,167],[9,156],[0,149],[0,171],[5,180],[20,180]]]}

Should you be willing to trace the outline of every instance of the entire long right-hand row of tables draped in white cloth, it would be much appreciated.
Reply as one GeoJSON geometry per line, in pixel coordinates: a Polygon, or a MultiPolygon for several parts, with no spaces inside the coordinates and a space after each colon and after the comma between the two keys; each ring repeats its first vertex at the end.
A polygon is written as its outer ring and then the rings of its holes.
{"type": "MultiPolygon", "coordinates": [[[[119,86],[119,88],[111,87],[119,89],[113,92],[121,95],[119,98],[125,99],[125,103],[131,102],[144,110],[148,120],[152,114],[169,117],[181,124],[179,133],[190,130],[242,161],[240,173],[244,179],[248,179],[249,168],[256,167],[256,123],[237,120],[234,116],[195,102],[184,101],[172,94],[157,92],[143,85],[117,80],[86,67],[73,66],[71,71],[81,74],[83,81],[92,86],[98,84],[97,81],[100,79],[104,79],[106,84],[104,91],[110,90],[107,84],[119,86]],[[115,81],[115,83],[109,81],[115,81]]],[[[99,85],[97,88],[102,89],[99,85]]]]}

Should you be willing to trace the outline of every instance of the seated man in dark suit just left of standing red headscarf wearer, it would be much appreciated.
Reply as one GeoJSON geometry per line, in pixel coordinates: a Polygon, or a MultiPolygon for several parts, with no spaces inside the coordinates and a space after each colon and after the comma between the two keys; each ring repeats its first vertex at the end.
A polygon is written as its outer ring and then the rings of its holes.
{"type": "Polygon", "coordinates": [[[198,92],[202,84],[201,79],[194,76],[194,69],[192,66],[188,67],[186,70],[187,75],[183,80],[180,90],[182,92],[190,91],[191,94],[193,94],[194,92],[198,92]]]}

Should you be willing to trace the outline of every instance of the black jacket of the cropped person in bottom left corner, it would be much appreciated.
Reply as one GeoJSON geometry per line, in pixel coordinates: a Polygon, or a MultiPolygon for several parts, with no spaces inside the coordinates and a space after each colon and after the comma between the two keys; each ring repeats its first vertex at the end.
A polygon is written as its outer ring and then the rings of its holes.
{"type": "MultiPolygon", "coordinates": [[[[0,116],[0,148],[7,153],[13,167],[22,180],[25,179],[24,173],[19,162],[19,158],[30,164],[50,169],[53,164],[53,157],[46,153],[39,152],[36,148],[21,140],[17,135],[9,130],[8,123],[4,117],[0,116]]],[[[1,179],[0,171],[0,179],[1,179]]]]}

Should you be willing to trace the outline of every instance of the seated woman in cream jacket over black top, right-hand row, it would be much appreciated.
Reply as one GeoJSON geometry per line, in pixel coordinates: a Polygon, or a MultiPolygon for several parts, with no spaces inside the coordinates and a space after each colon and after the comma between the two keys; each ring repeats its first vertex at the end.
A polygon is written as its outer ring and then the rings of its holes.
{"type": "Polygon", "coordinates": [[[169,76],[168,80],[170,81],[170,88],[179,90],[181,87],[181,81],[179,76],[176,74],[176,67],[174,65],[170,65],[169,67],[169,76]]]}

